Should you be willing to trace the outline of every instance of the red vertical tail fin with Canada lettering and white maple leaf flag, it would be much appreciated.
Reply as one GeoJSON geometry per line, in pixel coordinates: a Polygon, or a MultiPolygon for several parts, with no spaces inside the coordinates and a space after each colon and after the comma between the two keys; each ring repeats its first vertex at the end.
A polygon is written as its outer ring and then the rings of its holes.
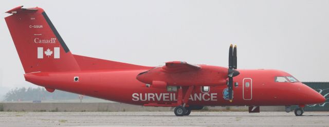
{"type": "Polygon", "coordinates": [[[46,12],[22,7],[7,11],[5,20],[25,73],[80,70],[46,12]]]}

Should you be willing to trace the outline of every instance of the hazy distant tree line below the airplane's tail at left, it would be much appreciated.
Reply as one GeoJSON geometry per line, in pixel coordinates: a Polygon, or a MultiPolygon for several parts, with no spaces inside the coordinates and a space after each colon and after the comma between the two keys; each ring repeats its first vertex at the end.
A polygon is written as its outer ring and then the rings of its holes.
{"type": "Polygon", "coordinates": [[[5,101],[34,101],[34,100],[70,100],[78,99],[78,94],[55,90],[53,93],[47,92],[43,87],[36,88],[14,88],[4,97],[5,101]]]}

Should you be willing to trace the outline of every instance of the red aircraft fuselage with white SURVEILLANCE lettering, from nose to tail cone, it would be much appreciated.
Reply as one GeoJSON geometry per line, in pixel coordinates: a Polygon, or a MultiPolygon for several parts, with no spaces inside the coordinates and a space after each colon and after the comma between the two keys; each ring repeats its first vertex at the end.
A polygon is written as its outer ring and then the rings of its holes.
{"type": "MultiPolygon", "coordinates": [[[[35,72],[25,74],[26,81],[46,88],[102,98],[106,100],[144,105],[150,103],[171,104],[177,102],[177,92],[147,87],[136,79],[146,70],[100,70],[72,72],[35,72]],[[78,77],[78,81],[75,81],[78,77]]],[[[226,85],[211,86],[209,92],[196,87],[189,105],[299,105],[322,102],[322,96],[301,82],[275,82],[276,76],[290,76],[279,70],[239,69],[241,74],[234,77],[237,86],[233,89],[233,102],[225,96],[226,85]],[[246,85],[247,83],[248,86],[246,85]]],[[[214,74],[215,75],[215,74],[214,74]]],[[[184,87],[184,86],[183,86],[184,87]]],[[[183,93],[186,88],[183,88],[183,93]]],[[[184,94],[183,94],[184,95],[184,94]]]]}

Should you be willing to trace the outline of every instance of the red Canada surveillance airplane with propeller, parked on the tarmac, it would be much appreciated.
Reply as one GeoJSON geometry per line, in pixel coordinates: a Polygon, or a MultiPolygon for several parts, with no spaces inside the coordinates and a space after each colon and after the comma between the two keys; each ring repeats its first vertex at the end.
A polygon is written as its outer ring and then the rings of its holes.
{"type": "Polygon", "coordinates": [[[176,116],[203,106],[298,105],[325,98],[290,74],[273,69],[236,69],[236,46],[229,48],[229,67],[167,62],[149,67],[73,55],[42,8],[13,8],[5,17],[25,71],[25,80],[91,97],[143,106],[175,107],[176,116]]]}

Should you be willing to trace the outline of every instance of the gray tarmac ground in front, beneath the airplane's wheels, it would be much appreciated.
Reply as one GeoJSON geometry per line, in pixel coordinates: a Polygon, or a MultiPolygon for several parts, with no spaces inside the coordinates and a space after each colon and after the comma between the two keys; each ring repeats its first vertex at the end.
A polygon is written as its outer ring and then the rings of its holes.
{"type": "Polygon", "coordinates": [[[0,112],[0,126],[329,126],[329,112],[0,112]]]}

